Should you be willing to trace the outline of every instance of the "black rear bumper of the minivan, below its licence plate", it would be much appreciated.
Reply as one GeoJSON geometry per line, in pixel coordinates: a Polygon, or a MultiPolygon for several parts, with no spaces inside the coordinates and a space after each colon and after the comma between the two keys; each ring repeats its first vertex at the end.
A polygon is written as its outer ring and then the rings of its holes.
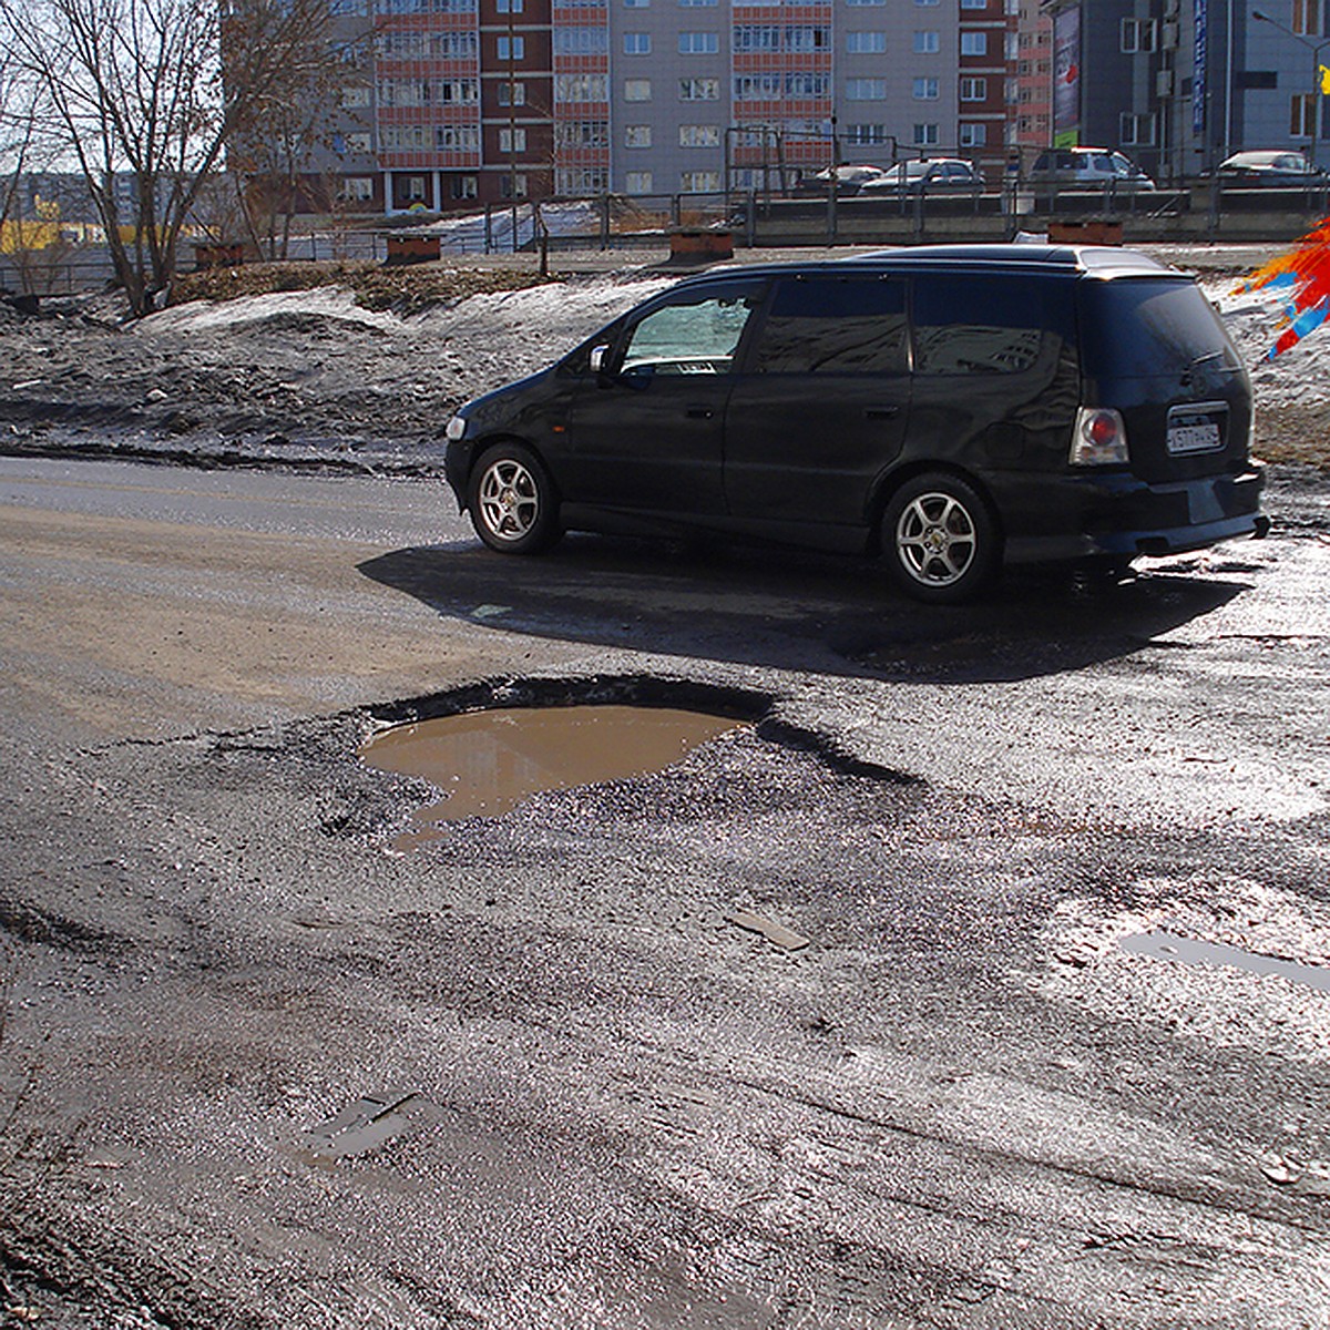
{"type": "Polygon", "coordinates": [[[1009,563],[1140,555],[1177,555],[1237,536],[1264,536],[1261,467],[1232,475],[1148,484],[1129,473],[1048,477],[1016,496],[1011,507],[996,489],[999,507],[1027,532],[1007,543],[1009,563]],[[1031,505],[1031,491],[1037,504],[1031,505]]]}

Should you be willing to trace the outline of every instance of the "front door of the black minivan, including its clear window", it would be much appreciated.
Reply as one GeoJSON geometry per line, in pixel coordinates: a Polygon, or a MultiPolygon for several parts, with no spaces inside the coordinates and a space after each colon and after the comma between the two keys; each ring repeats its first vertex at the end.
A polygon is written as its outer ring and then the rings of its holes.
{"type": "Polygon", "coordinates": [[[722,431],[761,279],[689,282],[632,314],[579,388],[568,503],[684,516],[725,512],[722,431]]]}

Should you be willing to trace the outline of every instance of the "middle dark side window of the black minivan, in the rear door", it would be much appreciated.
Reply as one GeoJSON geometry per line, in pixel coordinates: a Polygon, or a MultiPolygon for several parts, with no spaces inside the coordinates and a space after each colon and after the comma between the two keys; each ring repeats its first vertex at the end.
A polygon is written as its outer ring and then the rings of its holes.
{"type": "Polygon", "coordinates": [[[758,332],[758,374],[904,374],[904,283],[786,278],[758,332]]]}

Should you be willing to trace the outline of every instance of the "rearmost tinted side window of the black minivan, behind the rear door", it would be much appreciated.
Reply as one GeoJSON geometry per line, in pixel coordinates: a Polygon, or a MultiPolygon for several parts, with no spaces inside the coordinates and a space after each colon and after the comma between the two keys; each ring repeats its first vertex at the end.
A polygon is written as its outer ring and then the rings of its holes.
{"type": "Polygon", "coordinates": [[[1075,346],[1071,285],[928,277],[914,286],[916,374],[1024,374],[1075,346]]]}

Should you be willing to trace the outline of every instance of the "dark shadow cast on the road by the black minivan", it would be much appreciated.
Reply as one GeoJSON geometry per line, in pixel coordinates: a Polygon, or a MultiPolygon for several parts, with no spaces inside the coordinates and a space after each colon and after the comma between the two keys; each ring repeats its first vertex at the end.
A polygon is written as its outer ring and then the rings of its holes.
{"type": "MultiPolygon", "coordinates": [[[[1128,656],[1249,588],[1153,572],[1087,585],[1011,571],[987,600],[919,605],[871,561],[575,536],[537,559],[480,544],[358,565],[447,618],[598,646],[912,682],[1033,678],[1128,656]]],[[[1241,569],[1241,565],[1240,565],[1241,569]]]]}

